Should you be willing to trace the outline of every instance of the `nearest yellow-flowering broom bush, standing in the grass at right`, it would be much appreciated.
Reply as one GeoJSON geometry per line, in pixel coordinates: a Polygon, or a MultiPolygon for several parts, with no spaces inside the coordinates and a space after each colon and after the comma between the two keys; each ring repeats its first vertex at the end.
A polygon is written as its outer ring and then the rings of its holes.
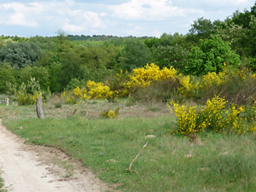
{"type": "Polygon", "coordinates": [[[171,112],[175,112],[178,125],[177,130],[171,132],[185,136],[201,131],[256,133],[256,124],[247,124],[247,117],[243,115],[245,109],[235,104],[228,108],[227,102],[219,96],[207,100],[206,105],[201,108],[170,102],[168,107],[171,112]]]}

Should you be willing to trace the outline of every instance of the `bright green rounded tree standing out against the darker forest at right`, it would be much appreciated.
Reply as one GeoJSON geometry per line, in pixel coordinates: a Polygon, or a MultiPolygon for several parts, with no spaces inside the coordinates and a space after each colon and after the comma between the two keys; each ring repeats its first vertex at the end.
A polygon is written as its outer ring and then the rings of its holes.
{"type": "Polygon", "coordinates": [[[228,42],[214,36],[201,39],[200,45],[191,49],[188,66],[183,71],[195,75],[208,72],[219,73],[224,67],[224,62],[236,68],[240,64],[239,55],[230,49],[228,42]]]}

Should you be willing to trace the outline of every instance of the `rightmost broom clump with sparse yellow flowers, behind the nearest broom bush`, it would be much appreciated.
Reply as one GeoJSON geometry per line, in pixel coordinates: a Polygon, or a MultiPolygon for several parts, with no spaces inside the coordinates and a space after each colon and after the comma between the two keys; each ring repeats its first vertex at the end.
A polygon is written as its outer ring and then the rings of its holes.
{"type": "Polygon", "coordinates": [[[206,100],[212,96],[220,95],[236,104],[246,104],[247,98],[256,96],[254,86],[255,73],[247,68],[233,69],[224,67],[221,73],[207,73],[198,86],[198,98],[206,100]]]}

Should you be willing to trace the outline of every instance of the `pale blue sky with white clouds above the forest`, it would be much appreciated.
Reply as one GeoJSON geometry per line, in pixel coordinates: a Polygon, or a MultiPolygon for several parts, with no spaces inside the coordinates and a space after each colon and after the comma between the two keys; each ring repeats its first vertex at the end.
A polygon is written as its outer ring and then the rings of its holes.
{"type": "Polygon", "coordinates": [[[160,37],[189,32],[198,18],[224,20],[253,0],[0,0],[0,35],[160,37]]]}

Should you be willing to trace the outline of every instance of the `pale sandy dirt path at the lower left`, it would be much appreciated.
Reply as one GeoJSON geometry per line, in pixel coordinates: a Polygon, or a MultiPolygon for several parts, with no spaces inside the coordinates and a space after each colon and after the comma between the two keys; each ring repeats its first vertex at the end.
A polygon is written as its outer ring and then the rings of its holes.
{"type": "MultiPolygon", "coordinates": [[[[71,177],[67,170],[53,163],[57,156],[67,159],[66,154],[51,148],[41,148],[39,153],[35,151],[37,148],[41,147],[24,144],[3,127],[0,119],[0,170],[6,189],[13,192],[94,192],[108,189],[82,166],[74,166],[71,177]]],[[[66,160],[63,162],[67,165],[66,160]]]]}

